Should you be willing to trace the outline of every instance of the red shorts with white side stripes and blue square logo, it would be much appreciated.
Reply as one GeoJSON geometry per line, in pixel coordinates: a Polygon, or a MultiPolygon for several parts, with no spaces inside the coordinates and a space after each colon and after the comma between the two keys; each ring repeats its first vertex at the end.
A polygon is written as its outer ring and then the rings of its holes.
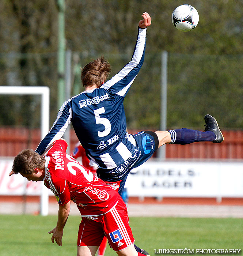
{"type": "Polygon", "coordinates": [[[111,248],[118,252],[134,243],[129,226],[128,211],[124,201],[106,214],[95,217],[82,217],[77,236],[77,246],[99,246],[104,235],[111,248]]]}

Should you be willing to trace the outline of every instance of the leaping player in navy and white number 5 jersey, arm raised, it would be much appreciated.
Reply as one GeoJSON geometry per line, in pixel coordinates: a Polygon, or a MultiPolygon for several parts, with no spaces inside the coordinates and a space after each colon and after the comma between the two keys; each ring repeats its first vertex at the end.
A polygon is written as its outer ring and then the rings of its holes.
{"type": "Polygon", "coordinates": [[[62,105],[48,135],[36,149],[42,155],[54,140],[62,137],[72,122],[90,165],[97,167],[98,177],[116,188],[120,195],[130,170],[151,158],[160,146],[223,141],[217,121],[210,115],[205,116],[205,132],[185,128],[143,131],[136,135],[126,132],[123,102],[143,64],[147,27],[151,25],[150,16],[146,12],[142,16],[129,63],[107,82],[110,72],[108,61],[98,58],[88,63],[81,74],[85,91],[62,105]]]}

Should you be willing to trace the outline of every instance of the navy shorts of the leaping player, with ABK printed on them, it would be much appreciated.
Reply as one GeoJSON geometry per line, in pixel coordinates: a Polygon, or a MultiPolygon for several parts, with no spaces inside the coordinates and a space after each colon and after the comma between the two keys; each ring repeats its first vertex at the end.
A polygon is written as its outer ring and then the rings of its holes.
{"type": "Polygon", "coordinates": [[[98,168],[96,170],[97,176],[111,185],[120,195],[123,192],[129,172],[151,158],[159,146],[159,139],[155,132],[143,131],[134,134],[133,137],[136,140],[136,146],[132,152],[132,157],[114,169],[98,168]]]}

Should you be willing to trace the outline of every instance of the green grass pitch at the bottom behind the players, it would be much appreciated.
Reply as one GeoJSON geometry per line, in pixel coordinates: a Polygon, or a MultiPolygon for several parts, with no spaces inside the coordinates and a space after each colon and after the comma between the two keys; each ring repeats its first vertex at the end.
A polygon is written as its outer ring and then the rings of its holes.
{"type": "MultiPolygon", "coordinates": [[[[69,216],[61,247],[47,233],[56,216],[0,215],[0,220],[0,256],[76,256],[80,217],[69,216]]],[[[135,244],[151,256],[158,255],[155,249],[243,249],[242,219],[131,217],[130,226],[135,244]]],[[[105,255],[117,254],[107,246],[105,255]]]]}

